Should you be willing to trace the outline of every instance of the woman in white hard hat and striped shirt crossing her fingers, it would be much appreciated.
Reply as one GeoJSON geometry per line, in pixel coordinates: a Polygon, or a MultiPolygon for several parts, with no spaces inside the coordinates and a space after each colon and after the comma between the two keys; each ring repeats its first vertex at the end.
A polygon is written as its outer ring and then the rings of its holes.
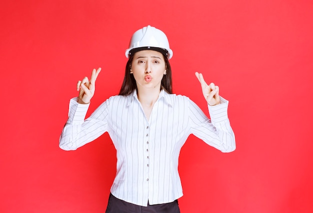
{"type": "Polygon", "coordinates": [[[59,146],[75,150],[108,132],[116,148],[116,176],[107,213],[179,213],[180,149],[190,134],[222,152],[235,149],[228,102],[218,86],[195,73],[208,104],[209,120],[189,98],[172,94],[172,57],[166,35],[151,26],[137,30],[125,55],[128,62],[119,95],[104,101],[84,121],[100,68],[77,83],[59,146]]]}

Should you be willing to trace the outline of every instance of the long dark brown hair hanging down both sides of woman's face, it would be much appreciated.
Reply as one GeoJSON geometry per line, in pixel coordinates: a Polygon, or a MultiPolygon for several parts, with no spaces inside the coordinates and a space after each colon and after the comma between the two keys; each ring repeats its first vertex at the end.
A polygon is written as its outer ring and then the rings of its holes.
{"type": "MultiPolygon", "coordinates": [[[[163,55],[163,54],[162,54],[163,55]]],[[[163,55],[165,61],[166,75],[163,75],[161,81],[161,88],[165,92],[172,94],[172,84],[171,84],[171,69],[170,64],[166,56],[163,55]]],[[[125,75],[123,83],[120,87],[118,95],[129,95],[134,89],[137,89],[136,81],[132,74],[130,74],[130,67],[133,59],[133,54],[129,55],[128,61],[126,63],[125,75]]]]}

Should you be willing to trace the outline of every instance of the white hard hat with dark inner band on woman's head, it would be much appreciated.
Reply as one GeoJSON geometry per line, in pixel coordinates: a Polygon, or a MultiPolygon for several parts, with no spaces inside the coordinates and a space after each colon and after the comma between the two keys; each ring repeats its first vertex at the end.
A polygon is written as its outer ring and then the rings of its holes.
{"type": "Polygon", "coordinates": [[[173,56],[173,51],[169,48],[165,33],[150,25],[138,29],[133,33],[129,42],[129,47],[125,51],[125,55],[128,58],[129,54],[133,51],[136,52],[145,49],[159,51],[167,56],[168,59],[173,56]]]}

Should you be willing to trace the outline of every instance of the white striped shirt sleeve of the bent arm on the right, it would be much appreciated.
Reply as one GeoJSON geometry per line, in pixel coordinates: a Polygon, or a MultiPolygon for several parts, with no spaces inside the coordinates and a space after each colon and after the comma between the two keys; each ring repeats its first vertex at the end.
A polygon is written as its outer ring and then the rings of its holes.
{"type": "Polygon", "coordinates": [[[228,101],[221,98],[221,103],[208,106],[210,119],[189,99],[189,124],[191,134],[221,152],[235,150],[234,133],[230,127],[227,108],[228,101]]]}

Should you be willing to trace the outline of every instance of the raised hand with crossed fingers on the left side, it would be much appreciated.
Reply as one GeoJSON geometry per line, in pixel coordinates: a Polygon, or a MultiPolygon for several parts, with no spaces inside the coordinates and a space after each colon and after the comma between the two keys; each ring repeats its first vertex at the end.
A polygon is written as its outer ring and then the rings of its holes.
{"type": "Polygon", "coordinates": [[[84,77],[81,81],[77,82],[77,91],[79,91],[78,95],[79,104],[88,104],[90,102],[90,99],[94,95],[95,80],[98,77],[100,71],[101,71],[100,67],[97,70],[93,69],[90,81],[88,80],[87,77],[84,77]]]}

